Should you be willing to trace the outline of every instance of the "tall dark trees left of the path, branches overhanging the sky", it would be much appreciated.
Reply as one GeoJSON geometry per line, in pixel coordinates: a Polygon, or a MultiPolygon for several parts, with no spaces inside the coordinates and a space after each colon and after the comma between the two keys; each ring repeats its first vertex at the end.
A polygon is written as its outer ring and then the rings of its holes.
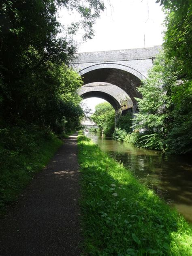
{"type": "Polygon", "coordinates": [[[67,29],[66,36],[60,36],[64,30],[56,18],[60,6],[79,11],[82,19],[76,25],[84,27],[85,39],[91,38],[92,25],[104,9],[100,0],[1,1],[2,119],[23,119],[56,129],[64,115],[69,122],[81,112],[75,92],[81,85],[80,77],[67,68],[77,45],[67,36],[67,29]]]}

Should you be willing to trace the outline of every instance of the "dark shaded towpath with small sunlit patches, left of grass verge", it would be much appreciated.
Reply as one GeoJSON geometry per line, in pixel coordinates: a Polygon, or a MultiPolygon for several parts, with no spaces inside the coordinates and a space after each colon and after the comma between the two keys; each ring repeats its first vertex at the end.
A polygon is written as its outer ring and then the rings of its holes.
{"type": "Polygon", "coordinates": [[[0,221],[0,256],[80,255],[77,134],[0,221]]]}

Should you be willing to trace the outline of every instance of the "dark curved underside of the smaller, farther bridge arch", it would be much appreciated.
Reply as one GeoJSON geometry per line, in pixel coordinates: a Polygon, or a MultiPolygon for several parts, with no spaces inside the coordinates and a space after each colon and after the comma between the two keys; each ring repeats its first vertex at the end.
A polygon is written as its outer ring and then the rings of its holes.
{"type": "Polygon", "coordinates": [[[106,92],[99,92],[99,91],[85,92],[81,94],[81,97],[83,99],[93,98],[93,97],[102,98],[103,100],[106,100],[107,102],[109,102],[115,110],[118,110],[121,107],[120,103],[113,96],[111,96],[110,94],[107,94],[106,92]]]}

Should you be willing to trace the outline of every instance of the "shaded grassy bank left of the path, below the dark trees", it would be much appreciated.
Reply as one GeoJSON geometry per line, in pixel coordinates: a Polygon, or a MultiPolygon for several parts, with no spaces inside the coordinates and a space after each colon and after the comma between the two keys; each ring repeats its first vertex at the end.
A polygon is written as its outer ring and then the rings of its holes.
{"type": "Polygon", "coordinates": [[[35,173],[62,145],[49,130],[21,122],[0,129],[0,212],[13,203],[35,173]]]}

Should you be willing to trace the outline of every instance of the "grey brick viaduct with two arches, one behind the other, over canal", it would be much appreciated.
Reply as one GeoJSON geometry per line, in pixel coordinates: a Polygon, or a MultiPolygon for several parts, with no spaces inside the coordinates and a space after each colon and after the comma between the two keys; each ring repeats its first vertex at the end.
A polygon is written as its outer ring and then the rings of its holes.
{"type": "Polygon", "coordinates": [[[81,75],[84,85],[78,90],[83,99],[99,97],[114,109],[132,108],[137,112],[141,94],[137,87],[147,76],[161,46],[149,48],[78,53],[72,66],[81,75]]]}

